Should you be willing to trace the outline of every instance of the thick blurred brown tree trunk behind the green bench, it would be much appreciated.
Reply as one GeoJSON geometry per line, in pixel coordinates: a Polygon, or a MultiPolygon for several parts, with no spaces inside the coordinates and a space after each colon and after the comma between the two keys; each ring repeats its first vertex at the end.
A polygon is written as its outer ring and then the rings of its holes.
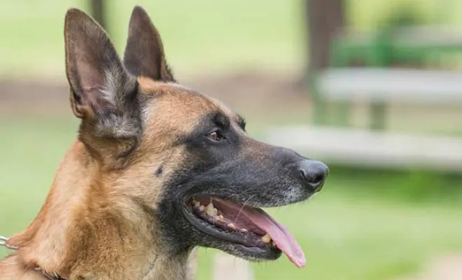
{"type": "Polygon", "coordinates": [[[306,0],[308,77],[328,66],[332,36],[345,25],[345,0],[306,0]]]}

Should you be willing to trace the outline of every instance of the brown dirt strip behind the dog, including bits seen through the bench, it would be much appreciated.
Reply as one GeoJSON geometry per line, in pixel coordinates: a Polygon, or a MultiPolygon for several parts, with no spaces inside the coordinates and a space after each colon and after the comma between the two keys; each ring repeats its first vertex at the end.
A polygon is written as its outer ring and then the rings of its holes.
{"type": "MultiPolygon", "coordinates": [[[[310,124],[313,104],[300,80],[300,76],[288,73],[241,71],[221,76],[190,76],[182,78],[180,83],[221,99],[244,115],[251,125],[310,124]]],[[[356,127],[367,127],[369,110],[367,100],[356,100],[350,122],[356,127]]],[[[335,105],[330,112],[335,113],[335,105]]],[[[0,78],[0,114],[71,116],[69,113],[69,87],[64,76],[52,81],[0,78]]],[[[391,103],[386,118],[390,130],[462,134],[460,104],[391,103]]]]}

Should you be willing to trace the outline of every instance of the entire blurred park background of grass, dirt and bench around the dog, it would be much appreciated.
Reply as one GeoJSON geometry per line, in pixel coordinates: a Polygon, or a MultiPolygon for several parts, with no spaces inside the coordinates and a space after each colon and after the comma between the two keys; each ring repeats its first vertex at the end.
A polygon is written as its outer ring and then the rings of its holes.
{"type": "MultiPolygon", "coordinates": [[[[310,202],[268,210],[307,267],[251,264],[255,279],[462,279],[456,0],[0,0],[0,235],[31,222],[76,137],[67,8],[122,53],[135,4],[181,83],[246,116],[258,139],[330,165],[310,202]]],[[[200,253],[197,279],[211,279],[217,252],[200,253]]]]}

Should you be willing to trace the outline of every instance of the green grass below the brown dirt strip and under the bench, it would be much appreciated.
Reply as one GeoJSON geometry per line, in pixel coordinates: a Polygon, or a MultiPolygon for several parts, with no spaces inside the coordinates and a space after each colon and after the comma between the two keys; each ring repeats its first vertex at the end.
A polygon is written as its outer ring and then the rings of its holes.
{"type": "MultiPolygon", "coordinates": [[[[71,116],[0,120],[0,235],[12,235],[34,218],[76,125],[71,116]]],[[[332,171],[310,202],[269,210],[300,242],[307,267],[297,269],[283,256],[253,264],[256,279],[388,280],[462,251],[460,204],[394,200],[382,194],[395,184],[405,187],[397,176],[332,171]]],[[[442,188],[438,182],[434,187],[442,188]]],[[[198,279],[209,279],[214,253],[202,249],[198,279]]]]}

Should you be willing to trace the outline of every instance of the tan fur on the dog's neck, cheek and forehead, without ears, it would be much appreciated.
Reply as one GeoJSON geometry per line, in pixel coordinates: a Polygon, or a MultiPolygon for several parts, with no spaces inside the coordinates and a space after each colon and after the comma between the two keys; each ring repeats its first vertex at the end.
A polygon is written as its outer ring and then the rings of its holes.
{"type": "Polygon", "coordinates": [[[160,251],[156,221],[134,202],[158,202],[163,181],[182,160],[182,147],[172,148],[174,135],[190,132],[205,113],[224,110],[184,87],[138,80],[140,93],[155,94],[155,102],[143,112],[148,123],[134,160],[111,169],[76,140],[35,220],[8,241],[20,249],[0,262],[1,280],[43,279],[34,267],[69,279],[101,280],[186,279],[188,269],[194,270],[195,260],[170,260],[160,251]],[[162,179],[153,176],[155,162],[162,162],[162,179]]]}

